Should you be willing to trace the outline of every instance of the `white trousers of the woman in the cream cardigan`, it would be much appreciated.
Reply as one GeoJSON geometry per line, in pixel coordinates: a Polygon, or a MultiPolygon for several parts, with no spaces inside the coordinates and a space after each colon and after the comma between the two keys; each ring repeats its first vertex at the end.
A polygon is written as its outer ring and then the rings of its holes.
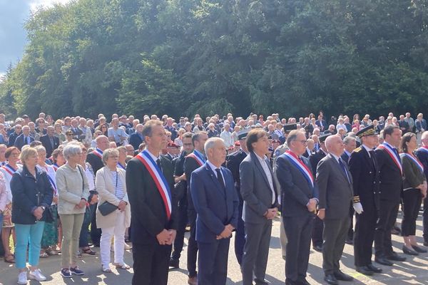
{"type": "Polygon", "coordinates": [[[125,252],[125,212],[116,214],[114,227],[103,227],[100,240],[101,266],[107,268],[110,264],[111,238],[114,237],[114,263],[123,264],[123,252],[125,252]]]}

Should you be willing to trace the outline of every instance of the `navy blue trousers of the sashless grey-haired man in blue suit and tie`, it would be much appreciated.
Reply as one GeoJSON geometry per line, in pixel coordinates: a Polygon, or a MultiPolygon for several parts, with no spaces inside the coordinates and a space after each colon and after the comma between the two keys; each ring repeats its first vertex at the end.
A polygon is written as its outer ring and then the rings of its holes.
{"type": "Polygon", "coordinates": [[[225,285],[228,276],[230,239],[198,242],[198,284],[225,285]]]}

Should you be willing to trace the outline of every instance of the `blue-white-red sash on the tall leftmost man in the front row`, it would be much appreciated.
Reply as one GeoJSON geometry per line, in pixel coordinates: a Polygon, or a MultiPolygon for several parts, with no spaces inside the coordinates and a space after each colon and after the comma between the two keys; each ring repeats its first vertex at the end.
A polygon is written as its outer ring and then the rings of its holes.
{"type": "Polygon", "coordinates": [[[163,204],[165,204],[166,215],[168,219],[170,219],[172,210],[171,191],[168,182],[165,180],[165,176],[163,176],[162,171],[159,169],[158,165],[156,165],[156,162],[153,160],[147,150],[143,150],[143,152],[138,153],[136,157],[143,163],[153,181],[155,182],[159,194],[161,194],[163,199],[163,204]]]}

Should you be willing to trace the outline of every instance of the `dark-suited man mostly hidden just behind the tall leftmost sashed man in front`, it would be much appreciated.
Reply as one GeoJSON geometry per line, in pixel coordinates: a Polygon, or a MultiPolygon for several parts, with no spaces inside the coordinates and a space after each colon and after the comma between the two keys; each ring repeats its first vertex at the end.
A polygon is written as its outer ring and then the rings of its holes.
{"type": "Polygon", "coordinates": [[[181,251],[183,250],[183,243],[184,243],[185,226],[187,225],[187,222],[188,222],[188,211],[187,211],[188,181],[187,181],[187,177],[185,177],[185,174],[184,174],[184,160],[186,156],[188,156],[191,152],[193,152],[192,133],[184,133],[182,141],[183,141],[183,152],[181,152],[180,156],[175,157],[173,160],[173,163],[175,164],[174,191],[175,191],[176,199],[178,201],[177,237],[175,237],[174,251],[171,254],[171,258],[169,261],[169,266],[173,268],[178,268],[180,265],[180,256],[181,256],[181,251]]]}

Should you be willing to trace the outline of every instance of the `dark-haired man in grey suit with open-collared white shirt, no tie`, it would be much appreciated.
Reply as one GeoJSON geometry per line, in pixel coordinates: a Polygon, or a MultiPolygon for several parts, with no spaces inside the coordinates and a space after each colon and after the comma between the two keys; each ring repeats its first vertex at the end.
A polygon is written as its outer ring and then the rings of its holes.
{"type": "Polygon", "coordinates": [[[272,219],[277,214],[277,189],[266,153],[269,139],[263,129],[251,130],[246,145],[250,155],[240,164],[240,192],[244,200],[245,246],[242,261],[243,285],[265,281],[272,219]]]}

